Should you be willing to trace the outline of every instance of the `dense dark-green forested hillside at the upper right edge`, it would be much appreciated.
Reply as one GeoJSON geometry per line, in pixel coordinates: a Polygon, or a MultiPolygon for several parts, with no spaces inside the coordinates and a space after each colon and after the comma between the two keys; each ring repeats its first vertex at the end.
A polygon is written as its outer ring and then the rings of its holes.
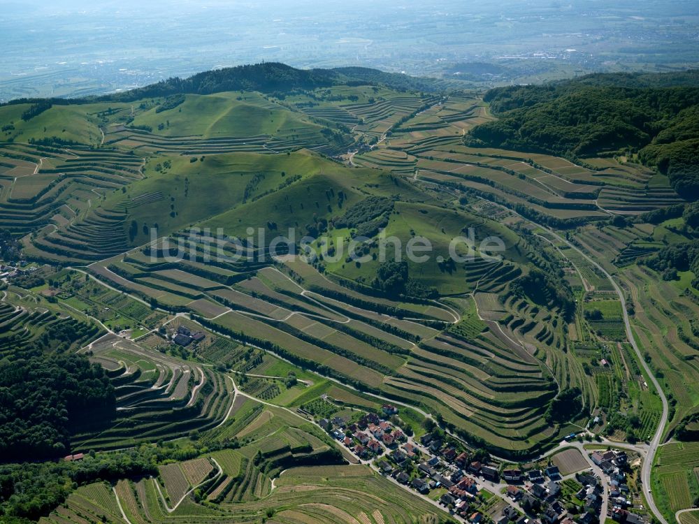
{"type": "Polygon", "coordinates": [[[499,119],[475,127],[471,146],[584,158],[637,154],[684,198],[699,197],[699,87],[696,71],[589,75],[545,86],[492,89],[499,119]]]}

